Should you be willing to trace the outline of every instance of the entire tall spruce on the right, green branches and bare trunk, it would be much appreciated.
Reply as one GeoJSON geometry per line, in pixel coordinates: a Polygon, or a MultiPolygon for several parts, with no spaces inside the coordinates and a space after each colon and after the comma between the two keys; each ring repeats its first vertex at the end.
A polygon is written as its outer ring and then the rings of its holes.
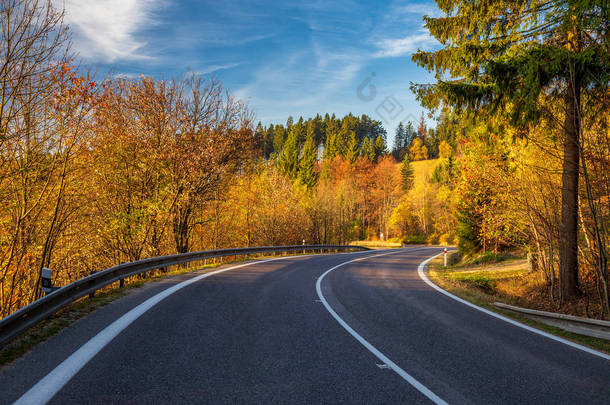
{"type": "MultiPolygon", "coordinates": [[[[559,277],[562,299],[578,294],[578,182],[583,92],[607,91],[610,76],[606,0],[436,0],[445,14],[424,17],[443,48],[413,60],[434,71],[434,85],[413,85],[422,103],[458,111],[506,113],[533,125],[563,99],[559,277]]],[[[555,117],[557,119],[558,117],[555,117]]]]}

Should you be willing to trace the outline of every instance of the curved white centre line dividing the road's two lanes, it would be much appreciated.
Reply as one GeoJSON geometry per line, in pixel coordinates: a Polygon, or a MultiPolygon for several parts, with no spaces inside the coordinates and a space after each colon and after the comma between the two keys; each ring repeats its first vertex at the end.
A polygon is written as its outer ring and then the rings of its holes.
{"type": "Polygon", "coordinates": [[[320,300],[324,304],[324,307],[326,307],[326,310],[333,316],[333,318],[335,318],[335,320],[337,322],[339,322],[339,324],[341,326],[343,326],[343,328],[350,335],[352,335],[358,342],[360,342],[368,351],[373,353],[375,355],[375,357],[377,357],[379,360],[381,360],[383,362],[383,364],[385,364],[389,368],[391,368],[396,374],[401,376],[406,382],[411,384],[416,390],[418,390],[419,392],[424,394],[426,397],[428,397],[428,399],[430,399],[435,404],[439,404],[439,405],[440,404],[444,404],[444,405],[447,405],[447,402],[443,401],[438,395],[436,395],[435,393],[430,391],[426,386],[424,386],[422,383],[420,383],[415,378],[413,378],[405,370],[403,370],[396,363],[394,363],[392,360],[390,360],[386,355],[384,355],[379,350],[377,350],[365,338],[360,336],[358,334],[358,332],[356,332],[354,329],[352,329],[351,326],[349,326],[343,319],[341,319],[341,317],[339,317],[339,315],[337,315],[335,310],[331,308],[331,306],[328,304],[328,301],[326,301],[326,298],[324,298],[324,295],[322,294],[322,280],[331,271],[333,271],[335,269],[338,269],[341,266],[345,266],[346,264],[357,262],[359,260],[372,259],[373,257],[386,256],[386,255],[391,255],[391,254],[396,254],[396,253],[403,253],[403,252],[400,252],[400,251],[399,252],[390,252],[390,253],[383,253],[383,254],[379,254],[379,255],[361,257],[361,258],[358,258],[358,259],[354,259],[354,260],[350,260],[350,261],[347,261],[347,262],[343,262],[343,263],[341,263],[341,264],[339,264],[339,265],[337,265],[335,267],[332,267],[332,268],[326,270],[326,272],[324,274],[322,274],[318,278],[318,281],[316,282],[316,291],[318,293],[318,297],[320,297],[320,300]]]}

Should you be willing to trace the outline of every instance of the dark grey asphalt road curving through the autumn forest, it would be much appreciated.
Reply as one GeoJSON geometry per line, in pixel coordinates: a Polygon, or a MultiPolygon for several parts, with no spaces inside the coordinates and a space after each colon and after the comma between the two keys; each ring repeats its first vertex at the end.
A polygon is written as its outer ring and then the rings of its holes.
{"type": "Polygon", "coordinates": [[[431,403],[422,387],[450,404],[610,403],[607,359],[425,284],[417,267],[439,252],[294,257],[215,274],[145,311],[73,377],[39,383],[125,313],[195,275],[149,283],[0,370],[0,403],[32,387],[54,404],[431,403]],[[318,295],[322,274],[362,257],[326,274],[318,295]]]}

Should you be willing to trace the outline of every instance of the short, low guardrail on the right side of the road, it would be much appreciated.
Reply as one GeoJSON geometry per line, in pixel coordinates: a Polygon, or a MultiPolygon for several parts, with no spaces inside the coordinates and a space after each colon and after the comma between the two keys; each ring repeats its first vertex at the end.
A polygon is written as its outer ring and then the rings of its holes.
{"type": "Polygon", "coordinates": [[[535,309],[515,307],[502,302],[494,302],[497,308],[523,315],[534,321],[556,326],[569,332],[610,340],[610,322],[600,319],[582,318],[580,316],[556,314],[554,312],[537,311],[535,309]]]}

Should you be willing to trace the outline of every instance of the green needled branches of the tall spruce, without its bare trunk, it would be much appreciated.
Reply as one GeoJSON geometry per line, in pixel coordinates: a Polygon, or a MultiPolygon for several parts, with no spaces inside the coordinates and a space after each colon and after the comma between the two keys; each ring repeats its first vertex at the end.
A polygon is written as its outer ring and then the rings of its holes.
{"type": "Polygon", "coordinates": [[[424,17],[444,47],[412,57],[437,83],[412,85],[429,108],[511,105],[514,122],[535,119],[541,92],[561,94],[577,78],[584,90],[607,88],[607,1],[446,1],[424,17]]]}

